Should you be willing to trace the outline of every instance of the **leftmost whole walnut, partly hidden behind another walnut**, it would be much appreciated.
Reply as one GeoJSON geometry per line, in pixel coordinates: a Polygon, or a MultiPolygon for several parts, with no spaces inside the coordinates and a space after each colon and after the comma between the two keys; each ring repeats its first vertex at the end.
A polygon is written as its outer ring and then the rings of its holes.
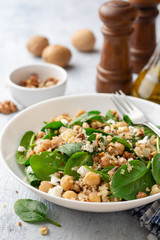
{"type": "Polygon", "coordinates": [[[27,49],[33,55],[40,57],[45,47],[49,45],[48,39],[43,36],[32,36],[27,41],[27,49]]]}

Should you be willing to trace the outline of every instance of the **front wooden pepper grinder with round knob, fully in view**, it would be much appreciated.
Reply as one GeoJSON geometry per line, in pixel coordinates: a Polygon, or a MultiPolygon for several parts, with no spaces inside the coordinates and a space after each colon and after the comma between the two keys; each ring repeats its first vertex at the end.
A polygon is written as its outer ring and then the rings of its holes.
{"type": "Polygon", "coordinates": [[[104,22],[104,44],[97,68],[97,92],[111,93],[121,89],[126,94],[130,93],[129,37],[136,14],[136,8],[126,1],[110,1],[101,5],[99,15],[104,22]]]}

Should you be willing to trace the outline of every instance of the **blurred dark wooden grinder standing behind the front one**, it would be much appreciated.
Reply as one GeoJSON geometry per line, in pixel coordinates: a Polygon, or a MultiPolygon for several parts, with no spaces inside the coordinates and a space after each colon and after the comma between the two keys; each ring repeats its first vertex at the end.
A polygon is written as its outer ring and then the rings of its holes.
{"type": "Polygon", "coordinates": [[[160,0],[129,0],[138,9],[131,36],[131,61],[133,72],[139,73],[146,65],[156,47],[155,19],[160,0]]]}

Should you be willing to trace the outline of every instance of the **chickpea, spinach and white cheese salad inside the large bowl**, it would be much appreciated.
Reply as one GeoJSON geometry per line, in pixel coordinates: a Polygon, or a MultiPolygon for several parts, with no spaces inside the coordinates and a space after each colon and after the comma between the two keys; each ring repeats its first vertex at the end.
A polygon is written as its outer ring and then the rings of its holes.
{"type": "Polygon", "coordinates": [[[160,193],[159,137],[115,110],[79,110],[22,137],[16,161],[28,183],[52,196],[117,202],[160,193]]]}

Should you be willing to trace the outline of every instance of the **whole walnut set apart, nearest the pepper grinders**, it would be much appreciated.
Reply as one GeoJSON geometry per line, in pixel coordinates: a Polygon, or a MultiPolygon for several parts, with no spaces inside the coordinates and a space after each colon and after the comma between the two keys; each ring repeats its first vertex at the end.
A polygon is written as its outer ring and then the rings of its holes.
{"type": "Polygon", "coordinates": [[[92,51],[95,41],[94,34],[88,29],[78,30],[71,37],[73,46],[82,52],[92,51]]]}

